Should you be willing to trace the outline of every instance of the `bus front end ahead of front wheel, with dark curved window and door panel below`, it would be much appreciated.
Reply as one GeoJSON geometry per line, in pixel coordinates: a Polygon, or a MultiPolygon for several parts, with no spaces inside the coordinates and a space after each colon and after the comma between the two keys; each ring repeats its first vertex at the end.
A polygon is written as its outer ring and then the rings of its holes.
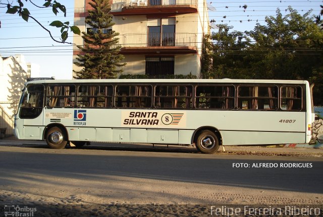
{"type": "Polygon", "coordinates": [[[19,105],[19,121],[16,120],[20,138],[42,139],[43,103],[44,86],[27,85],[19,105]]]}

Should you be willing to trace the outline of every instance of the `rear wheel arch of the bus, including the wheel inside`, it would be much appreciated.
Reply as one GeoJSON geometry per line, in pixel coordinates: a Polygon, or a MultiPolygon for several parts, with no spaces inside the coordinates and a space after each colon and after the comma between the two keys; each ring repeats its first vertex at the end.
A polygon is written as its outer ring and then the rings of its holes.
{"type": "Polygon", "coordinates": [[[222,145],[220,131],[211,126],[200,127],[195,130],[192,136],[192,143],[203,154],[213,154],[222,145]]]}

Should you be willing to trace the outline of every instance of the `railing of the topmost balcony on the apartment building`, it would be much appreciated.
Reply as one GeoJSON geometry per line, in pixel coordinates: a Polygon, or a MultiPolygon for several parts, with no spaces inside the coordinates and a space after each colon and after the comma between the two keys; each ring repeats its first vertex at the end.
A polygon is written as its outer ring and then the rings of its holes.
{"type": "Polygon", "coordinates": [[[124,7],[168,5],[192,5],[197,7],[197,0],[113,0],[111,12],[121,11],[124,7]]]}

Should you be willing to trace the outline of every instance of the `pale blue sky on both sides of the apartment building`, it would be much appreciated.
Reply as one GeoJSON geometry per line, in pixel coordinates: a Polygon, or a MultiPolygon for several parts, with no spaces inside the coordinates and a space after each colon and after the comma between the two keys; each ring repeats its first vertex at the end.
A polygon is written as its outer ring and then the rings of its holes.
{"type": "MultiPolygon", "coordinates": [[[[16,1],[14,1],[16,2],[16,1]]],[[[35,1],[44,3],[44,1],[35,1]]],[[[54,20],[62,22],[69,21],[73,24],[74,20],[74,1],[58,1],[67,8],[67,16],[63,13],[58,16],[52,13],[51,9],[39,9],[33,7],[29,2],[25,6],[44,26],[48,27],[52,35],[59,39],[60,29],[48,26],[54,20]]],[[[233,30],[250,31],[256,23],[264,24],[265,16],[276,16],[279,8],[284,15],[288,14],[285,10],[288,6],[297,10],[299,14],[304,14],[308,10],[313,10],[313,16],[320,12],[320,5],[323,1],[244,1],[235,0],[207,0],[209,9],[209,20],[214,20],[212,26],[216,24],[228,24],[233,26],[233,30]],[[243,6],[247,6],[246,9],[243,6]]],[[[7,3],[0,0],[0,3],[7,3]]],[[[72,79],[72,57],[73,46],[61,44],[50,39],[49,34],[37,23],[29,20],[25,22],[18,15],[6,14],[6,8],[0,8],[0,55],[3,57],[23,54],[26,62],[40,65],[40,77],[55,77],[56,79],[72,79]]],[[[217,29],[211,31],[216,32],[217,29]]],[[[73,34],[69,33],[68,42],[73,42],[73,34]]]]}

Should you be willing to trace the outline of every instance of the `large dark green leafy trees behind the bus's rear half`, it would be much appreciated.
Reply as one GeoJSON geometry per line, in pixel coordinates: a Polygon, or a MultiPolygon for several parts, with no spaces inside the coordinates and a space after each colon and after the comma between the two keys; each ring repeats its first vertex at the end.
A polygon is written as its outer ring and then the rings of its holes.
{"type": "Polygon", "coordinates": [[[315,105],[323,105],[323,32],[310,12],[298,14],[291,7],[283,16],[265,18],[253,31],[232,31],[218,25],[211,38],[212,67],[203,77],[210,79],[286,79],[315,83],[315,105]]]}

